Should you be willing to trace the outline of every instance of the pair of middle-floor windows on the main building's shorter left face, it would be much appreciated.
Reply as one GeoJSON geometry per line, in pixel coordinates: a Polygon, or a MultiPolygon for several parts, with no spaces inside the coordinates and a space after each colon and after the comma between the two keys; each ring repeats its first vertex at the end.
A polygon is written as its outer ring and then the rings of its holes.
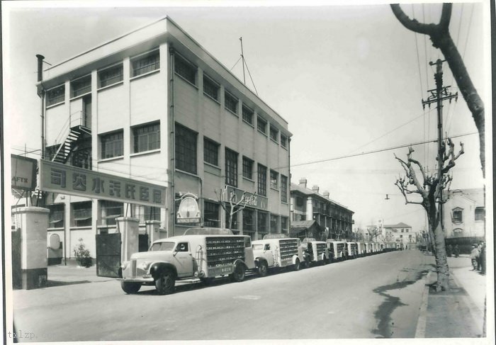
{"type": "MultiPolygon", "coordinates": [[[[131,128],[133,135],[132,153],[146,152],[160,148],[160,123],[148,123],[131,128]]],[[[101,159],[121,157],[124,154],[124,132],[118,130],[100,135],[101,159]]]]}

